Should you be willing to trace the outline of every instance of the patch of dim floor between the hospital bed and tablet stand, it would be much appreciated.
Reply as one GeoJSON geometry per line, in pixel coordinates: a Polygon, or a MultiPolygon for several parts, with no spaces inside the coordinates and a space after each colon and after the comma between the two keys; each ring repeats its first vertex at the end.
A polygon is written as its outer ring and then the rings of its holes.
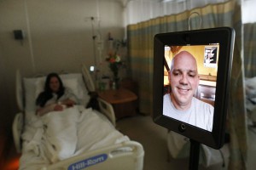
{"type": "Polygon", "coordinates": [[[167,161],[167,130],[154,124],[150,116],[125,117],[117,122],[117,128],[130,139],[143,144],[144,170],[189,168],[188,159],[167,161]]]}

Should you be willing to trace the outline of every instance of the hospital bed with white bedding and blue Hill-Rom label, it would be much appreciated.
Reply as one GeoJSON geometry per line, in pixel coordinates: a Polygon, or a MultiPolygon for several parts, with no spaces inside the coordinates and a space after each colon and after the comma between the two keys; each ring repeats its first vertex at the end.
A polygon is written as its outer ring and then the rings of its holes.
{"type": "Polygon", "coordinates": [[[95,91],[85,65],[81,73],[60,74],[65,87],[81,105],[61,113],[35,115],[35,99],[44,88],[44,77],[21,77],[16,73],[20,113],[13,122],[20,169],[127,169],[142,170],[142,144],[115,129],[112,105],[97,99],[100,111],[85,108],[88,91],[95,91]]]}

